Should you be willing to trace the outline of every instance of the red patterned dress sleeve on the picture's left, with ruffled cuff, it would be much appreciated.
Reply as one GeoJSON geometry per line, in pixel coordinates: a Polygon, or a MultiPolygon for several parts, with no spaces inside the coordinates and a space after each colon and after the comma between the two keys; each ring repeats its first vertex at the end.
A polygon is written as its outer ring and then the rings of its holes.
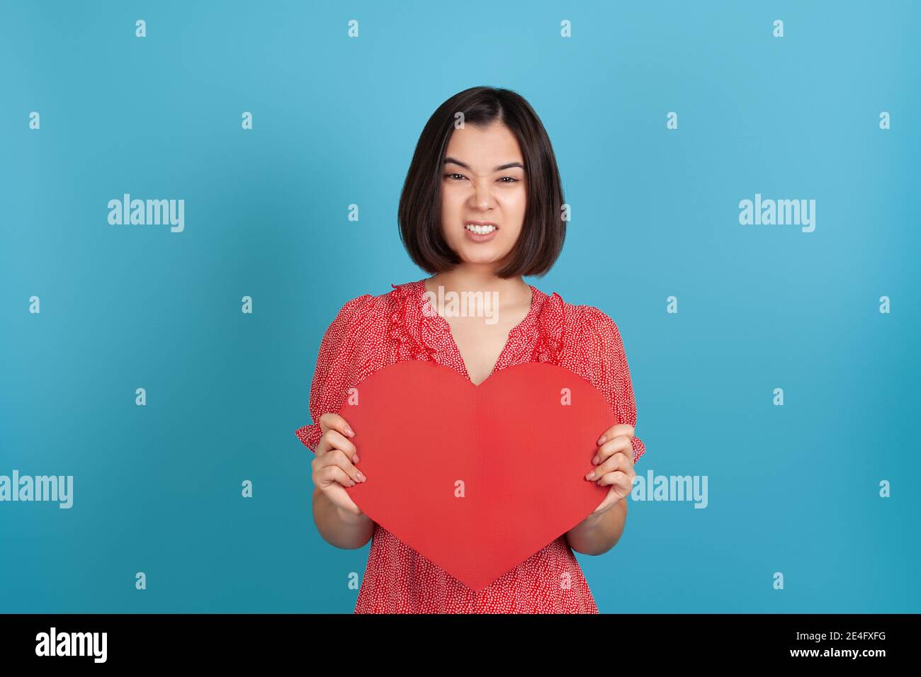
{"type": "Polygon", "coordinates": [[[317,368],[310,385],[309,411],[314,423],[295,430],[297,438],[314,453],[322,435],[319,423],[321,415],[338,412],[345,402],[355,357],[354,327],[361,319],[361,309],[370,298],[366,294],[346,301],[323,334],[317,368]]]}

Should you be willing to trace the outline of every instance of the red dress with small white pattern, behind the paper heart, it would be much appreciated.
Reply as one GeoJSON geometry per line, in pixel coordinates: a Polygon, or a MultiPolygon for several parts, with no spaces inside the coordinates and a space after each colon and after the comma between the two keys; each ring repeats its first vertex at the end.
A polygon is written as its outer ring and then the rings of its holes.
{"type": "MultiPolygon", "coordinates": [[[[349,388],[394,362],[431,360],[470,378],[448,321],[425,296],[425,280],[391,286],[387,294],[347,301],[323,335],[309,399],[314,421],[338,412],[349,388]]],[[[618,423],[635,426],[630,372],[611,318],[530,288],[530,311],[508,334],[493,373],[524,362],[569,368],[601,391],[618,423]]],[[[320,425],[296,434],[315,451],[320,425]]],[[[639,438],[633,450],[637,461],[646,450],[639,438]]],[[[375,525],[355,613],[598,613],[598,607],[565,534],[474,592],[375,525]]]]}

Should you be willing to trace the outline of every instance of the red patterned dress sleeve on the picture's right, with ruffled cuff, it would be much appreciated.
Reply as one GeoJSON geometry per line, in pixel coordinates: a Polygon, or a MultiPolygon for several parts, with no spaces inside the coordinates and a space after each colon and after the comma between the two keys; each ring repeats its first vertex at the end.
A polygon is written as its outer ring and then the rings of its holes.
{"type": "MultiPolygon", "coordinates": [[[[636,403],[624,342],[614,321],[603,311],[585,306],[582,345],[586,351],[592,384],[611,405],[618,424],[636,427],[636,403]]],[[[634,462],[646,453],[643,440],[635,437],[634,462]]]]}

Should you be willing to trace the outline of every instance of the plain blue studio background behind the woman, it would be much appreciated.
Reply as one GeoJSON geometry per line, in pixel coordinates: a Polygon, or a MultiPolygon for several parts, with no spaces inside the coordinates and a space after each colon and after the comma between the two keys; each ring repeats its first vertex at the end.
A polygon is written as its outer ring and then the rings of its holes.
{"type": "Polygon", "coordinates": [[[910,2],[5,2],[0,474],[72,474],[75,503],[0,503],[0,612],[351,613],[367,546],[322,541],[294,430],[335,312],[426,276],[402,180],[475,85],[554,143],[573,218],[527,280],[617,322],[637,473],[709,478],[706,509],[633,503],[577,555],[600,611],[921,611],[919,24],[910,2]],[[184,199],[184,232],[110,226],[122,193],[184,199]],[[755,193],[815,199],[815,231],[740,226],[755,193]]]}

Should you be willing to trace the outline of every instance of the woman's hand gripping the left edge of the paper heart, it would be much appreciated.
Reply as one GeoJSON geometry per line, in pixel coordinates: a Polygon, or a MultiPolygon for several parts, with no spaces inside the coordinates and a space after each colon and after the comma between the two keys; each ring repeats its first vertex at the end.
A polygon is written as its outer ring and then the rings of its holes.
{"type": "Polygon", "coordinates": [[[355,445],[348,439],[355,433],[342,416],[332,413],[321,415],[320,429],[320,443],[313,461],[310,461],[313,484],[330,499],[332,505],[352,515],[364,515],[345,491],[346,486],[355,486],[367,479],[355,467],[358,454],[355,445]]]}

